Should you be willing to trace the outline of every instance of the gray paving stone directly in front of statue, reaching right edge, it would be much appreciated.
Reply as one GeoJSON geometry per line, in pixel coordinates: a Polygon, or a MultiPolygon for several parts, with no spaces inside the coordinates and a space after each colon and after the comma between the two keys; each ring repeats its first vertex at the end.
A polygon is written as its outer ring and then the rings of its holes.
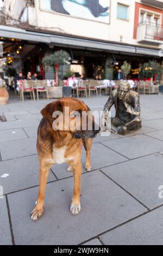
{"type": "Polygon", "coordinates": [[[102,144],[123,156],[128,157],[129,159],[134,159],[136,157],[145,156],[163,150],[163,143],[161,141],[146,135],[124,137],[118,140],[114,139],[112,141],[102,142],[102,144]]]}

